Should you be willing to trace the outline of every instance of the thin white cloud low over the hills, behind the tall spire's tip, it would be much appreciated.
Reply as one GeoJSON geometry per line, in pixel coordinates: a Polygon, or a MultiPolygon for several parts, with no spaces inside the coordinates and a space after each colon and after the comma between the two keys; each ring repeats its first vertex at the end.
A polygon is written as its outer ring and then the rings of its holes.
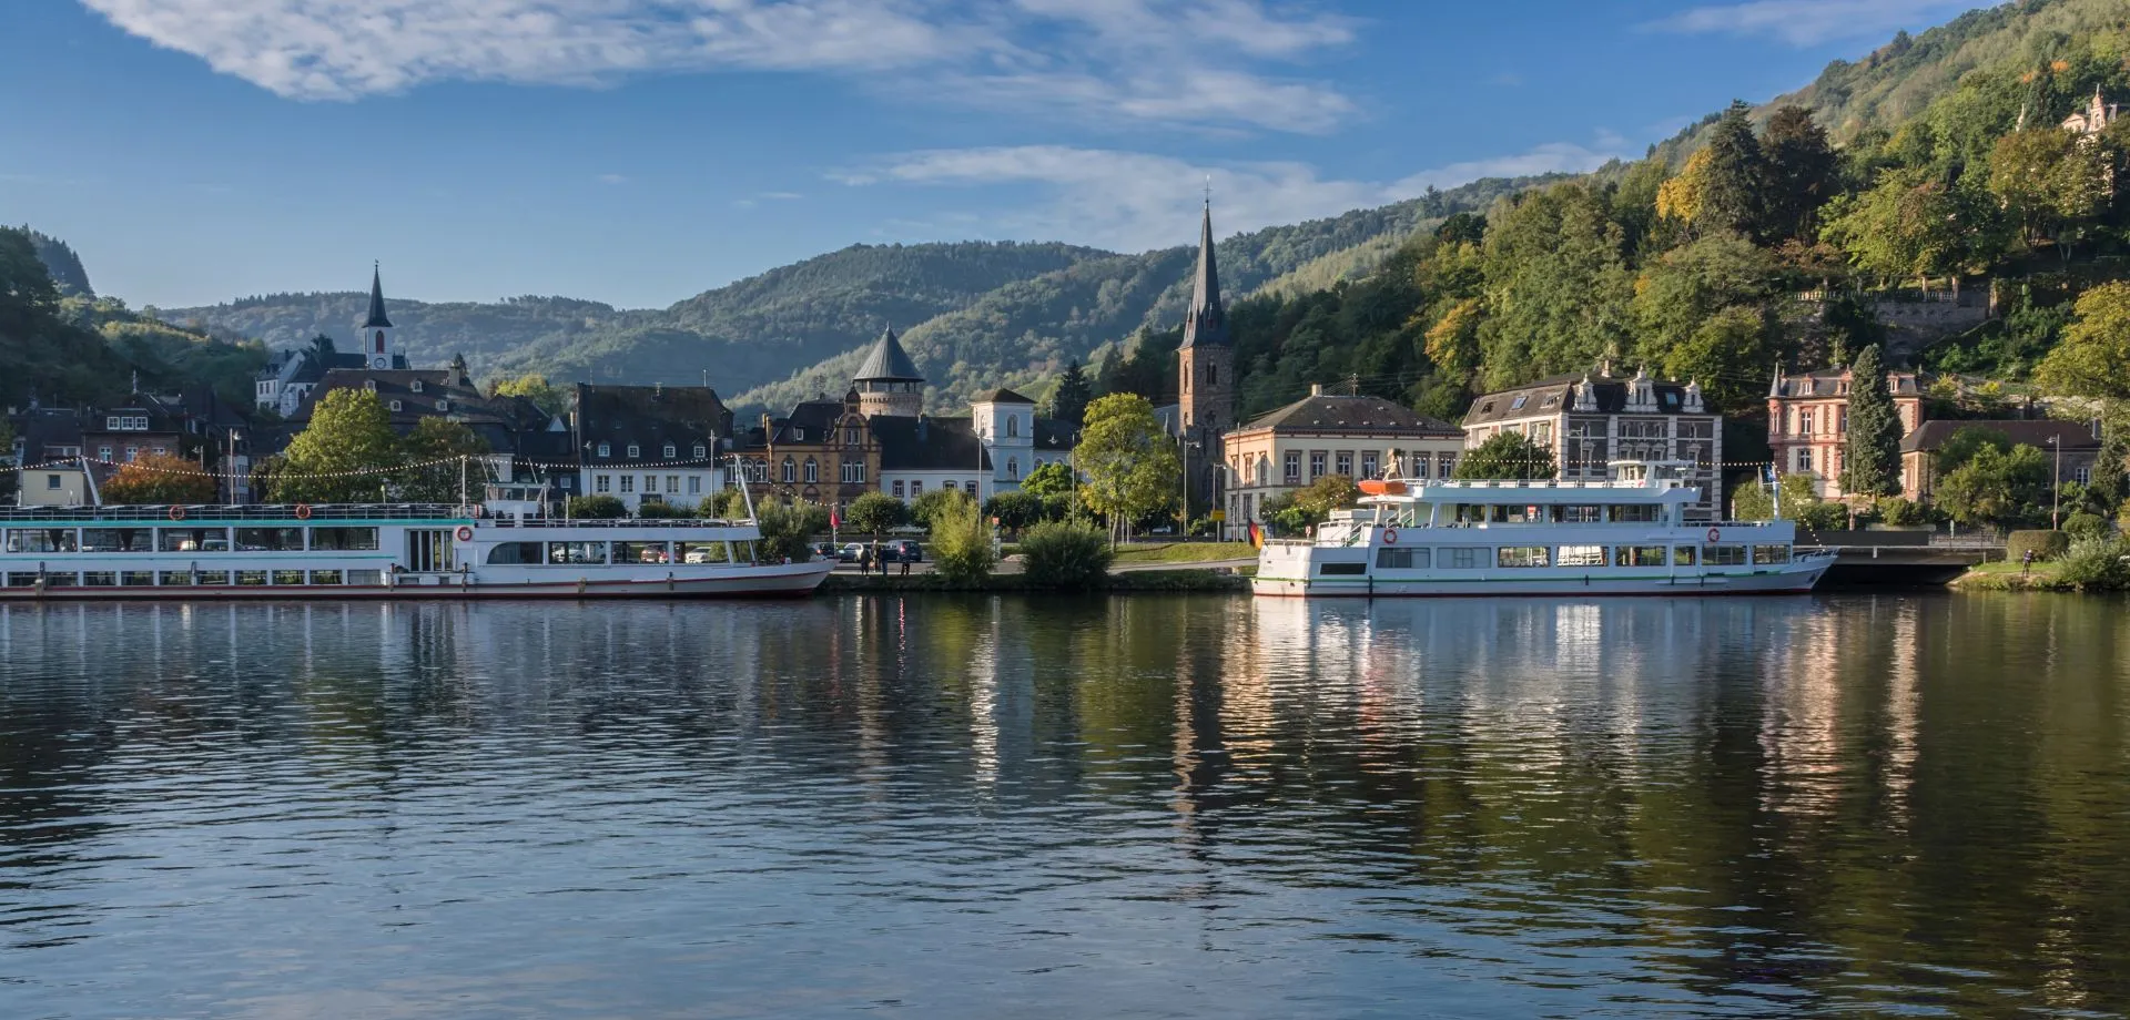
{"type": "Polygon", "coordinates": [[[1212,179],[1223,236],[1416,198],[1480,177],[1591,170],[1625,153],[1551,143],[1536,149],[1421,170],[1397,181],[1325,179],[1301,162],[1191,164],[1169,155],[1065,145],[931,149],[901,153],[837,177],[850,185],[1037,185],[1048,200],[1029,213],[990,219],[1001,236],[1059,238],[1116,251],[1189,243],[1189,217],[1212,179]]]}

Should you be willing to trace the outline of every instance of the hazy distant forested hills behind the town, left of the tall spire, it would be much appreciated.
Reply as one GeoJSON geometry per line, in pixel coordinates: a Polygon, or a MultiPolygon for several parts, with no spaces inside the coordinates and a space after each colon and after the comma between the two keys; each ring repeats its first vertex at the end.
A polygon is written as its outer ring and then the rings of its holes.
{"type": "MultiPolygon", "coordinates": [[[[724,392],[788,375],[884,326],[910,328],[976,302],[1003,283],[1108,251],[1074,245],[852,245],[697,294],[671,309],[624,311],[575,298],[420,302],[386,268],[386,298],[415,364],[464,353],[475,375],[545,373],[556,381],[690,383],[724,392]]],[[[345,339],[364,292],[268,294],[204,309],[164,309],[170,322],[273,347],[320,332],[345,339]]]]}

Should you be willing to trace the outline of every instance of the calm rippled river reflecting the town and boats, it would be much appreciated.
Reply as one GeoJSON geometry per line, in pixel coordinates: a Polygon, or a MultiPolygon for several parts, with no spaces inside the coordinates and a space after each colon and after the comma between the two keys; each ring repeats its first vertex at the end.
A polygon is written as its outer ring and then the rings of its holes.
{"type": "Polygon", "coordinates": [[[0,1016],[2121,1016],[2126,609],[0,607],[0,1016]]]}

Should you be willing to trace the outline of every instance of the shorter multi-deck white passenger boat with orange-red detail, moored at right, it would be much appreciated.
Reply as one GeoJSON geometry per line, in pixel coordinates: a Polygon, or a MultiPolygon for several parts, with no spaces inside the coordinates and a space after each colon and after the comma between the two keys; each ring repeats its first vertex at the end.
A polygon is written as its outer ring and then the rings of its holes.
{"type": "Polygon", "coordinates": [[[1832,554],[1798,554],[1796,524],[1689,522],[1689,464],[1617,462],[1612,481],[1361,483],[1308,541],[1267,541],[1267,596],[1776,594],[1808,592],[1832,554]]]}

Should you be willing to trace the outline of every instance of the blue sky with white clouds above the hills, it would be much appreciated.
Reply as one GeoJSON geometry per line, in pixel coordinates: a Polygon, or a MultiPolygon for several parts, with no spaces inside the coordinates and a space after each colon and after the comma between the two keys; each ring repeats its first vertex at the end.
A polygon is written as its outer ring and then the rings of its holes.
{"type": "Polygon", "coordinates": [[[662,307],[850,243],[1191,243],[1640,155],[1940,0],[9,0],[0,221],[104,294],[662,307]],[[360,11],[360,13],[358,13],[360,11]]]}

